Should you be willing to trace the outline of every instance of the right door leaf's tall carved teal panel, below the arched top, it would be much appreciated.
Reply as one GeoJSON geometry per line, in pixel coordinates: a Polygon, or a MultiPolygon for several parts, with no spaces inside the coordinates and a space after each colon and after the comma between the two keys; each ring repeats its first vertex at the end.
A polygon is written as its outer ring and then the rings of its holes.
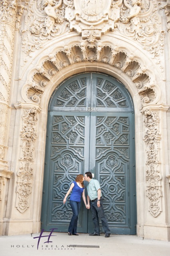
{"type": "Polygon", "coordinates": [[[101,184],[111,232],[118,234],[135,230],[129,219],[134,218],[135,208],[130,208],[130,181],[132,187],[134,183],[132,119],[132,113],[91,113],[90,170],[101,184]]]}

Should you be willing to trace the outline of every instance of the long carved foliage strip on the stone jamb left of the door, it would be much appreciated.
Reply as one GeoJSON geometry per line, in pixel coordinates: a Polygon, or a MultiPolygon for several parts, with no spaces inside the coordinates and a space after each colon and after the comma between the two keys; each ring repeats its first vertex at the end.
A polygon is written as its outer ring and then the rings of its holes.
{"type": "Polygon", "coordinates": [[[33,162],[35,141],[37,138],[37,121],[39,110],[36,107],[24,109],[22,114],[22,156],[20,158],[20,170],[17,173],[18,185],[16,192],[18,199],[16,207],[20,212],[25,212],[29,207],[30,194],[32,192],[33,162]]]}

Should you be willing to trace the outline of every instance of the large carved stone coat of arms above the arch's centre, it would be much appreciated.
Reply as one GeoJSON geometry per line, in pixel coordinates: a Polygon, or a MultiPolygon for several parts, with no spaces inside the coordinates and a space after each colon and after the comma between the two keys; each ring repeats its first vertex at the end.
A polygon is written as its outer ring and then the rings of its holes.
{"type": "MultiPolygon", "coordinates": [[[[68,2],[68,0],[65,0],[68,2]]],[[[67,4],[65,17],[70,29],[87,38],[89,33],[100,39],[101,34],[114,29],[114,22],[120,17],[120,8],[112,0],[73,0],[74,8],[67,4]],[[93,32],[92,32],[93,30],[93,32]]]]}

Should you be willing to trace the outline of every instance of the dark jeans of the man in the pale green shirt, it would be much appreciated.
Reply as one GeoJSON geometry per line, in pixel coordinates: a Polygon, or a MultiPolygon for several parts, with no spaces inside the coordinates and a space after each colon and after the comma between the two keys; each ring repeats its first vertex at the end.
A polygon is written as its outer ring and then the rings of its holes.
{"type": "Polygon", "coordinates": [[[93,223],[95,225],[95,233],[100,234],[100,228],[99,228],[99,218],[100,218],[105,234],[111,234],[111,231],[109,229],[108,222],[103,210],[103,200],[102,199],[100,200],[100,207],[97,207],[97,200],[90,202],[90,206],[91,206],[93,223]]]}

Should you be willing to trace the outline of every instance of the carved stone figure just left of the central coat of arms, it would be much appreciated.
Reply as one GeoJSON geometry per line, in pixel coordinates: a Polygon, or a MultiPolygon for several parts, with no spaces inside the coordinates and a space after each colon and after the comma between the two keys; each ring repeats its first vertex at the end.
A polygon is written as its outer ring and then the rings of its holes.
{"type": "Polygon", "coordinates": [[[55,22],[57,23],[57,8],[61,5],[62,0],[59,0],[58,4],[54,0],[44,0],[43,6],[45,13],[47,14],[47,17],[45,18],[45,28],[46,33],[44,33],[44,36],[50,35],[51,32],[55,32],[53,30],[53,26],[55,22]],[[55,5],[56,4],[56,5],[55,5]]]}

